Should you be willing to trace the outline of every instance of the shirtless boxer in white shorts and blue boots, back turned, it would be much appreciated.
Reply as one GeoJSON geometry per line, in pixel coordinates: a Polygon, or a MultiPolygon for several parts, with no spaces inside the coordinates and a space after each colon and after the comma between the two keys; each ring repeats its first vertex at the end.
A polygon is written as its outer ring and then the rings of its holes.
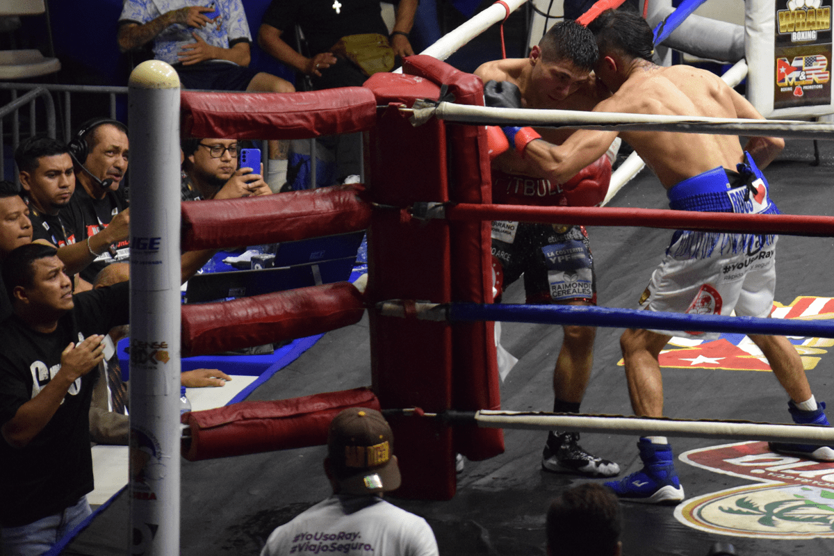
{"type": "MultiPolygon", "coordinates": [[[[609,98],[596,104],[595,112],[764,119],[746,98],[714,73],[682,64],[656,65],[654,33],[639,13],[605,10],[588,23],[588,29],[600,54],[594,74],[611,92],[609,98]]],[[[766,168],[776,158],[785,147],[781,138],[747,137],[742,147],[737,135],[580,129],[560,145],[537,139],[530,133],[522,135],[519,144],[515,128],[501,129],[508,141],[510,137],[516,140],[515,148],[523,160],[547,168],[545,177],[556,183],[564,183],[577,170],[600,157],[615,137],[621,137],[656,174],[673,209],[776,213],[756,165],[766,168]],[[738,183],[733,176],[736,169],[743,176],[738,183]]],[[[643,301],[654,310],[668,307],[723,313],[736,305],[740,312],[765,313],[770,310],[772,278],[767,276],[768,268],[753,269],[751,265],[762,262],[772,268],[772,255],[770,260],[766,255],[762,259],[758,257],[760,249],[772,251],[775,241],[776,238],[761,234],[676,232],[667,250],[667,262],[658,269],[643,301]],[[722,260],[730,256],[735,258],[722,260]],[[752,260],[754,256],[756,259],[752,260]],[[725,278],[721,263],[731,269],[738,268],[727,275],[743,274],[745,271],[741,269],[746,264],[746,276],[725,278]],[[733,283],[736,279],[740,283],[733,283]],[[680,290],[687,289],[685,298],[680,290]],[[719,300],[721,310],[716,311],[719,300]]],[[[775,378],[788,394],[791,418],[801,424],[828,424],[825,405],[817,403],[811,393],[801,358],[791,342],[784,336],[755,333],[749,336],[764,353],[775,378]]],[[[670,333],[638,328],[628,328],[620,336],[625,379],[636,415],[663,416],[663,380],[658,357],[670,338],[670,333]]],[[[829,446],[770,443],[770,447],[782,453],[834,461],[834,448],[829,446]]],[[[605,483],[606,486],[620,498],[638,502],[681,502],[684,492],[668,439],[641,437],[637,448],[643,468],[620,481],[605,483]]]]}

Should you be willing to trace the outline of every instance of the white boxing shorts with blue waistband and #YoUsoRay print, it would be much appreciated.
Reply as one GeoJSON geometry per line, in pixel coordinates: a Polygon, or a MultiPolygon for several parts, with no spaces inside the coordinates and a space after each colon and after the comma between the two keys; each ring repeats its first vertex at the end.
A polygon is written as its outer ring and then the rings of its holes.
{"type": "MultiPolygon", "coordinates": [[[[671,188],[678,210],[778,214],[767,181],[751,158],[739,173],[715,168],[671,188]]],[[[767,234],[678,231],[640,299],[650,311],[768,317],[776,288],[776,240],[767,234]]],[[[654,330],[657,333],[669,333],[654,330]]],[[[690,338],[718,333],[674,332],[690,338]]]]}

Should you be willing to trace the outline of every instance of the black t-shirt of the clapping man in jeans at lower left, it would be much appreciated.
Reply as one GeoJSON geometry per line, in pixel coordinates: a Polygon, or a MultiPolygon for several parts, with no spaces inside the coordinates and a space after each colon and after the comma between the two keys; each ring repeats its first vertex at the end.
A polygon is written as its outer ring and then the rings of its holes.
{"type": "MultiPolygon", "coordinates": [[[[35,332],[14,315],[0,323],[0,426],[58,373],[70,342],[128,323],[128,298],[126,282],[79,293],[53,333],[35,332]]],[[[93,490],[88,413],[94,375],[73,383],[53,418],[26,447],[12,448],[0,436],[3,527],[58,513],[93,490]]]]}

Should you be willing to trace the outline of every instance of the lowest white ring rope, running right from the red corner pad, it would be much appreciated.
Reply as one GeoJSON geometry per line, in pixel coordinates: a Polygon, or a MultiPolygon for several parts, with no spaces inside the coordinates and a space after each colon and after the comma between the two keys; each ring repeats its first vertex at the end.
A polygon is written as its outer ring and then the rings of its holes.
{"type": "Polygon", "coordinates": [[[834,443],[834,427],[821,425],[623,417],[619,415],[558,415],[544,412],[495,410],[475,412],[475,421],[478,426],[487,428],[559,429],[580,433],[603,432],[639,434],[642,436],[728,438],[731,440],[767,440],[826,445],[834,443]]]}

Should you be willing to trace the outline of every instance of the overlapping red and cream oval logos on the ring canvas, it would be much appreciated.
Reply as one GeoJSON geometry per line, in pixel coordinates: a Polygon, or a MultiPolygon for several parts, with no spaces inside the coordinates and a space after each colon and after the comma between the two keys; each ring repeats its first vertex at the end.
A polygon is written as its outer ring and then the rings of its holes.
{"type": "Polygon", "coordinates": [[[698,468],[756,483],[687,500],[675,517],[692,528],[751,538],[834,538],[834,463],[742,442],[682,453],[698,468]]]}

